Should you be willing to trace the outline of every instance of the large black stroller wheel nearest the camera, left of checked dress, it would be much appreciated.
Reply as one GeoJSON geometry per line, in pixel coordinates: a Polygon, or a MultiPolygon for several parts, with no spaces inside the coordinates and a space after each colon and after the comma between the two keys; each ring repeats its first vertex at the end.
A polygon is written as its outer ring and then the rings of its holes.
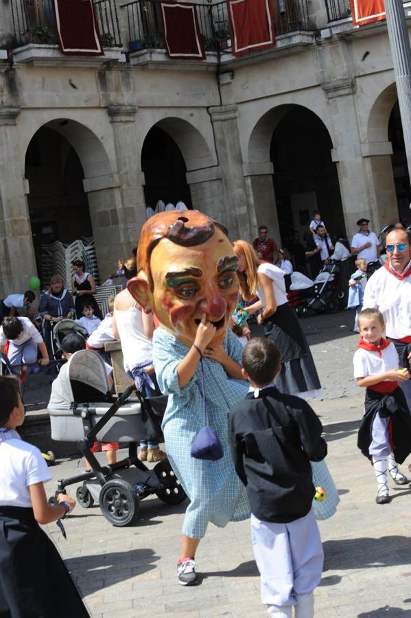
{"type": "Polygon", "coordinates": [[[130,483],[121,479],[103,485],[99,503],[102,514],[113,526],[128,526],[139,517],[139,495],[130,483]]]}

